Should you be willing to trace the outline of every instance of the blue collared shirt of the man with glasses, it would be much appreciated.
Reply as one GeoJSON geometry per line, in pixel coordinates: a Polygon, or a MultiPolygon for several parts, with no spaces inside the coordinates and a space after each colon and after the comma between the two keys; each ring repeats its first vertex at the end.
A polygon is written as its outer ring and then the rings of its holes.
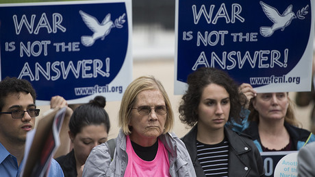
{"type": "MultiPolygon", "coordinates": [[[[18,161],[16,157],[10,154],[8,150],[3,147],[0,143],[0,174],[1,177],[12,177],[20,176],[24,161],[22,160],[20,166],[18,166],[18,161]]],[[[49,177],[64,177],[62,168],[55,159],[51,160],[51,165],[49,168],[49,177]]]]}

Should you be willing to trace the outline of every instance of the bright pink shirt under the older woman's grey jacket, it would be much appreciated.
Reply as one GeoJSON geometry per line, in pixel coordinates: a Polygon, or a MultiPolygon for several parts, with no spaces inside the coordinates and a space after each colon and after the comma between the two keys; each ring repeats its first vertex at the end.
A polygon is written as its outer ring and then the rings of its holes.
{"type": "Polygon", "coordinates": [[[127,136],[126,151],[128,164],[125,176],[171,176],[169,172],[168,152],[163,143],[158,139],[157,153],[153,161],[143,161],[132,148],[129,136],[127,136]]]}

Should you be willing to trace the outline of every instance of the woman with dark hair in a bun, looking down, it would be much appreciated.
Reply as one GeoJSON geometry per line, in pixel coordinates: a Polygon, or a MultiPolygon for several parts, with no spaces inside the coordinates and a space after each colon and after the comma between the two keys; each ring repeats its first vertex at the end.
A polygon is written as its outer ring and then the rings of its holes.
{"type": "Polygon", "coordinates": [[[56,158],[64,176],[81,176],[82,165],[86,163],[92,148],[108,140],[110,119],[104,109],[105,104],[105,97],[97,96],[73,111],[68,132],[73,150],[56,158]]]}

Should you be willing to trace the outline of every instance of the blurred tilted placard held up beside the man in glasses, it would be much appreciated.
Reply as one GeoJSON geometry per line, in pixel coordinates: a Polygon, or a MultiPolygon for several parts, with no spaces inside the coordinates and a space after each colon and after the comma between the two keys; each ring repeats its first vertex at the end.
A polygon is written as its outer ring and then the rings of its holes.
{"type": "Polygon", "coordinates": [[[66,108],[55,108],[44,114],[36,129],[27,133],[25,163],[21,176],[47,176],[54,152],[60,145],[59,133],[66,108]]]}

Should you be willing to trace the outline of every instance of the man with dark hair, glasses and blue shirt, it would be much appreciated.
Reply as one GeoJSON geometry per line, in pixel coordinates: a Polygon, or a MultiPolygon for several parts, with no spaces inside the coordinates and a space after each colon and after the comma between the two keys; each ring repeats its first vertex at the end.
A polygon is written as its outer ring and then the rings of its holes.
{"type": "MultiPolygon", "coordinates": [[[[26,134],[35,126],[36,92],[27,80],[5,78],[0,82],[0,176],[19,176],[23,167],[26,134]]],[[[64,176],[51,161],[49,176],[64,176]]]]}

